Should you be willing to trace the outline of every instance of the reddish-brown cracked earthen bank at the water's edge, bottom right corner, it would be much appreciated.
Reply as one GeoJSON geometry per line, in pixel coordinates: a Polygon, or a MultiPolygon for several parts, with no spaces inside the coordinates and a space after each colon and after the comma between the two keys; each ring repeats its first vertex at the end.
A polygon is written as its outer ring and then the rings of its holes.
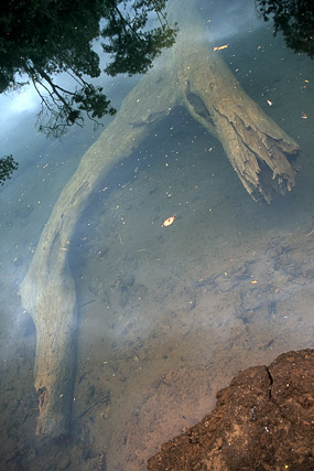
{"type": "Polygon", "coordinates": [[[213,413],[162,446],[148,469],[314,470],[314,350],[239,373],[213,413]]]}

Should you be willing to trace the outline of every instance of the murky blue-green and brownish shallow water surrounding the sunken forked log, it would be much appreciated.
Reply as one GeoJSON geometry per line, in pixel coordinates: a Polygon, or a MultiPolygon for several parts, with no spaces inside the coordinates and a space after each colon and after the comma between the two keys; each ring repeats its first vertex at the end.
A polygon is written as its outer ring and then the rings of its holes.
{"type": "MultiPolygon", "coordinates": [[[[296,185],[271,205],[253,203],[220,143],[185,108],[111,172],[72,240],[73,422],[71,437],[53,443],[34,435],[35,330],[19,286],[97,133],[87,126],[46,141],[32,116],[8,132],[3,152],[11,146],[22,163],[0,193],[3,469],[100,470],[105,456],[108,470],[145,469],[238,371],[313,347],[313,62],[264,28],[234,35],[223,57],[301,146],[296,185]]],[[[117,99],[129,88],[126,79],[117,99]]]]}

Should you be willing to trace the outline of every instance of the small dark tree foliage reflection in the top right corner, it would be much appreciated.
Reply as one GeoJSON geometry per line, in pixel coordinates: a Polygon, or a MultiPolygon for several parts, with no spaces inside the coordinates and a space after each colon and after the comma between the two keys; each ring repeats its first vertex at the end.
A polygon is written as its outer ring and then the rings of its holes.
{"type": "Polygon", "coordinates": [[[266,21],[273,19],[274,34],[282,31],[286,45],[314,57],[314,0],[256,0],[266,21]]]}

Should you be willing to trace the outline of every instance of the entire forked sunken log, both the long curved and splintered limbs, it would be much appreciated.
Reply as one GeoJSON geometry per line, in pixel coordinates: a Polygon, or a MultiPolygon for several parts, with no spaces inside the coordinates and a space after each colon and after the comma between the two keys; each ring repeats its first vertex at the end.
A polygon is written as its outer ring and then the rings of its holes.
{"type": "Polygon", "coordinates": [[[124,98],[115,120],[82,158],[62,191],[21,286],[22,306],[36,327],[35,388],[40,395],[36,432],[69,431],[76,364],[76,291],[67,251],[89,196],[120,160],[129,157],[175,106],[221,142],[246,190],[271,201],[294,184],[289,156],[297,144],[251,98],[205,41],[203,20],[192,0],[174,0],[176,44],[124,98]],[[197,42],[194,39],[197,38],[197,42]]]}

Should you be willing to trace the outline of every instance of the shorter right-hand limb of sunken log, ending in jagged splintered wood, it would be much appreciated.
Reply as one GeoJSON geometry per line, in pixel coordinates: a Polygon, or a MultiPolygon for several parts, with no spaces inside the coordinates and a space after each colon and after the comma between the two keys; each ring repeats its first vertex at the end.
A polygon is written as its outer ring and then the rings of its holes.
{"type": "Polygon", "coordinates": [[[204,21],[193,2],[176,0],[173,9],[181,25],[176,43],[181,98],[219,139],[251,197],[270,203],[274,191],[284,194],[294,185],[289,159],[297,154],[299,146],[246,94],[219,52],[206,43],[204,21]]]}

